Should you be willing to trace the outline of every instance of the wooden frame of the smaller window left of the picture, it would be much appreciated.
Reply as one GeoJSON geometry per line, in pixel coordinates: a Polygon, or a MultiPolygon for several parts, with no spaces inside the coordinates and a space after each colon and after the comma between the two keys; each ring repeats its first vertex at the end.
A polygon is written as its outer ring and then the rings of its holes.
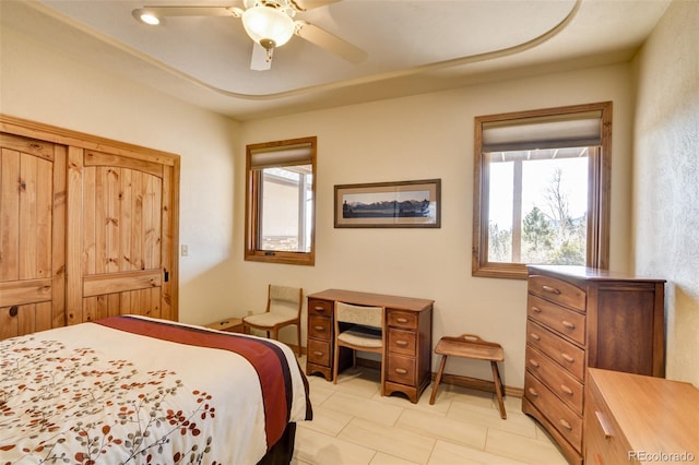
{"type": "MultiPolygon", "coordinates": [[[[245,215],[245,260],[266,263],[284,263],[293,265],[316,264],[316,154],[317,136],[289,139],[284,141],[263,142],[246,145],[246,215],[245,215]],[[260,238],[262,170],[252,167],[253,153],[280,152],[295,146],[310,146],[310,165],[312,180],[310,212],[310,248],[309,252],[288,252],[281,250],[262,250],[260,238]]],[[[306,165],[308,163],[304,163],[306,165]]],[[[287,165],[288,166],[288,165],[287,165]]]]}

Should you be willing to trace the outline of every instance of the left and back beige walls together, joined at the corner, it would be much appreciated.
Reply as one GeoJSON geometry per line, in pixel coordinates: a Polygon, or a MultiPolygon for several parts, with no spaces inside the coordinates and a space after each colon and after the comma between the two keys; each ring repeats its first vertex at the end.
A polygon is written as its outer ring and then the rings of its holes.
{"type": "MultiPolygon", "coordinates": [[[[262,306],[270,282],[430,298],[435,341],[473,332],[500,342],[505,382],[521,388],[525,283],[471,276],[473,119],[502,111],[614,102],[612,266],[629,267],[628,64],[239,124],[11,31],[1,52],[0,111],[182,156],[182,321],[244,315],[262,306]],[[307,135],[318,136],[316,266],[245,262],[245,144],[307,135]],[[440,229],[333,228],[334,184],[427,178],[442,180],[440,229]]],[[[295,342],[293,332],[282,338],[295,342]]],[[[450,372],[489,377],[486,363],[451,363],[450,372]]]]}

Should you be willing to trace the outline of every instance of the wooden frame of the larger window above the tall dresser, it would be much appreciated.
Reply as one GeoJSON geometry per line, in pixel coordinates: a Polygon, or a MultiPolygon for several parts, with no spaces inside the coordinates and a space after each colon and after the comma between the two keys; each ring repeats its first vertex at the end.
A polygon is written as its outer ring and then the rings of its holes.
{"type": "Polygon", "coordinates": [[[612,102],[479,116],[474,124],[472,275],[525,279],[526,264],[488,261],[489,166],[483,153],[485,123],[526,118],[565,117],[600,111],[601,144],[588,174],[588,245],[585,266],[608,270],[612,175],[612,102]]]}

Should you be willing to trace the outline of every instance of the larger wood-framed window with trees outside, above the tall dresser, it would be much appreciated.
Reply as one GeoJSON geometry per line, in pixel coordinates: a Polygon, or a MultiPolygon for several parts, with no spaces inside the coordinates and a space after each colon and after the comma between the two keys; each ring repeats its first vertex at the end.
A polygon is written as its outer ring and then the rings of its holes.
{"type": "Polygon", "coordinates": [[[474,276],[608,269],[612,103],[475,119],[474,276]]]}

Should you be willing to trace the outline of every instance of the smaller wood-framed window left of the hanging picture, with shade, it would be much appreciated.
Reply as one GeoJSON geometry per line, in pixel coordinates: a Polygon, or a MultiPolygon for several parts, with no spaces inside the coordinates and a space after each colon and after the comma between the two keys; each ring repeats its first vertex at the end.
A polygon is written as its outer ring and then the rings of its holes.
{"type": "Polygon", "coordinates": [[[316,138],[246,151],[245,260],[312,265],[316,138]]]}

